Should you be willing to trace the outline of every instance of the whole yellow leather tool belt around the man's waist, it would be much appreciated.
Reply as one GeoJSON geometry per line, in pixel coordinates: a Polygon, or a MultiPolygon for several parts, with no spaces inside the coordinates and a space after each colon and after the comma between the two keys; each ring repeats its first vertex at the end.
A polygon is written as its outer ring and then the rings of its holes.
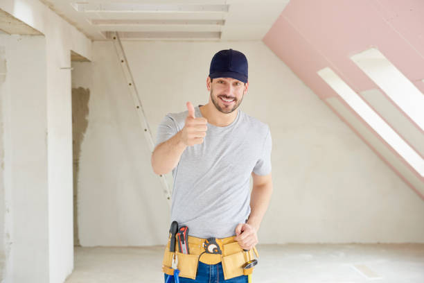
{"type": "Polygon", "coordinates": [[[189,254],[178,252],[178,242],[175,243],[175,253],[170,252],[170,239],[168,239],[168,245],[166,246],[164,253],[164,261],[162,262],[162,271],[168,275],[174,275],[174,270],[171,267],[173,257],[177,257],[177,268],[179,270],[180,277],[196,279],[197,266],[199,261],[204,264],[219,264],[222,262],[222,270],[224,271],[224,279],[229,280],[233,277],[240,275],[249,275],[253,272],[254,267],[242,268],[248,261],[254,259],[255,252],[256,257],[259,257],[256,248],[245,252],[234,237],[227,237],[222,239],[201,239],[197,237],[188,236],[188,250],[189,254]],[[209,252],[205,252],[205,249],[209,252]]]}

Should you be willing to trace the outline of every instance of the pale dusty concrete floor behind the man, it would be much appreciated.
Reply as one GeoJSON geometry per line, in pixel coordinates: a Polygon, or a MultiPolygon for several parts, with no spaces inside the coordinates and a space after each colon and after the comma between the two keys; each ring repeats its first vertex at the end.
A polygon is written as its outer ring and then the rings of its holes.
{"type": "MultiPolygon", "coordinates": [[[[164,282],[164,246],[75,249],[66,283],[164,282]]],[[[252,282],[423,283],[424,244],[258,245],[252,282]]]]}

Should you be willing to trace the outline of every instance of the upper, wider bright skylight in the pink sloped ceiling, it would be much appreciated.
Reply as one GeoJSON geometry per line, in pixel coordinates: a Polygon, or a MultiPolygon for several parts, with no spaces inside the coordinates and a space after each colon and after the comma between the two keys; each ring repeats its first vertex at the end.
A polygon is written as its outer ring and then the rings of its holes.
{"type": "Polygon", "coordinates": [[[385,55],[371,48],[351,56],[351,60],[424,130],[424,95],[385,55]]]}

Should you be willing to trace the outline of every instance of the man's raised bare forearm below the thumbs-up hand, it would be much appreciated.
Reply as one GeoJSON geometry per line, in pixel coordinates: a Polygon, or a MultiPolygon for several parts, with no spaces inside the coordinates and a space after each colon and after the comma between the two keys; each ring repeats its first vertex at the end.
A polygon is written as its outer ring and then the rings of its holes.
{"type": "Polygon", "coordinates": [[[156,174],[166,174],[177,166],[179,158],[186,149],[181,139],[182,132],[159,144],[152,153],[152,169],[156,174]]]}

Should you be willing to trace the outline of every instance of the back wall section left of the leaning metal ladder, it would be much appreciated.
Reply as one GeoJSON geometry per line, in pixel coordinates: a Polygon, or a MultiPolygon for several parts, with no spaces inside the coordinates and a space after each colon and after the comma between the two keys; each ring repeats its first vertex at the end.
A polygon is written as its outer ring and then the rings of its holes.
{"type": "Polygon", "coordinates": [[[90,92],[77,181],[80,245],[164,243],[169,207],[113,42],[94,42],[92,62],[73,67],[73,88],[90,92]]]}

